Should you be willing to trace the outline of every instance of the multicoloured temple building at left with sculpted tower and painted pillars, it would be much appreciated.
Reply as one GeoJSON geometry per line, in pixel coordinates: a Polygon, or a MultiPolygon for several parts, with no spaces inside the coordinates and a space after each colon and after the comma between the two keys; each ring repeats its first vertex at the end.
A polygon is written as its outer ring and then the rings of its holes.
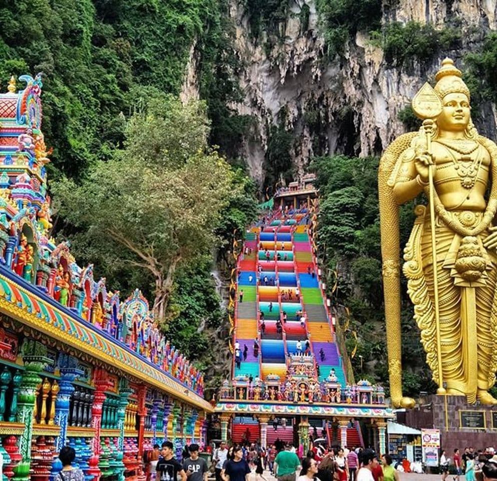
{"type": "Polygon", "coordinates": [[[0,455],[4,481],[49,481],[69,444],[85,479],[145,479],[155,442],[206,443],[203,375],[48,237],[42,82],[0,94],[0,455]]]}

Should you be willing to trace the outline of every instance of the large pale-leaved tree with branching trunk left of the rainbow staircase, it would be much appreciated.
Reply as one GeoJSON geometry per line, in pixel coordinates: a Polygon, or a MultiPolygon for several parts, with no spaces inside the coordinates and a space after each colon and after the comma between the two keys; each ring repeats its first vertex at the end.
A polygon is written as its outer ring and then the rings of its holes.
{"type": "Polygon", "coordinates": [[[85,230],[99,257],[153,278],[153,311],[162,320],[177,268],[210,252],[237,191],[230,166],[207,147],[202,102],[152,96],[126,134],[126,147],[96,162],[81,184],[64,178],[53,191],[60,213],[85,230]]]}

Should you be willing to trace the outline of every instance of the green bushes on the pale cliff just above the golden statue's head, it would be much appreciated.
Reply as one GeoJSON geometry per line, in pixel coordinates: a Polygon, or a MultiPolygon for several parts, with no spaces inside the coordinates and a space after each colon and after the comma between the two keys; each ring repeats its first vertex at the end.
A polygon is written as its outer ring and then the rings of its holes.
{"type": "Polygon", "coordinates": [[[391,22],[383,27],[381,46],[388,63],[402,66],[408,60],[433,58],[441,50],[456,47],[460,39],[461,31],[453,27],[436,30],[415,21],[391,22]]]}

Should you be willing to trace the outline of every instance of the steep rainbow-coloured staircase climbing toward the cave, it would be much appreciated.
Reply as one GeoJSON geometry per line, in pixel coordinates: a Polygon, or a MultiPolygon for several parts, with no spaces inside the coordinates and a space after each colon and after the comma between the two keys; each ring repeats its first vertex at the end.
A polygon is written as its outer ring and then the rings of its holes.
{"type": "Polygon", "coordinates": [[[249,252],[239,261],[238,295],[243,290],[243,301],[236,306],[235,342],[239,342],[242,353],[246,345],[248,355],[240,368],[233,363],[235,377],[252,375],[266,380],[272,374],[284,381],[288,355],[296,352],[297,341],[304,348],[308,339],[319,364],[319,379],[326,379],[334,371],[338,381],[346,384],[317,277],[306,213],[290,210],[284,216],[275,212],[273,220],[260,231],[252,229],[245,234],[244,252],[249,252]],[[305,311],[304,325],[297,320],[297,311],[305,311]],[[260,329],[262,317],[264,332],[260,329]],[[254,339],[260,346],[258,356],[254,356],[254,339]]]}

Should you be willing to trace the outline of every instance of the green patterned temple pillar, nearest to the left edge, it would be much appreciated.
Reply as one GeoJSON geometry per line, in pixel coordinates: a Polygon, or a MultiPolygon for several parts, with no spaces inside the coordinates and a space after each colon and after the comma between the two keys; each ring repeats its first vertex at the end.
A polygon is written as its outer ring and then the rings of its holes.
{"type": "Polygon", "coordinates": [[[24,372],[18,394],[17,422],[24,424],[23,434],[19,438],[19,451],[23,460],[14,468],[16,473],[29,471],[31,463],[31,442],[33,436],[33,413],[35,410],[37,386],[42,378],[39,373],[51,362],[47,357],[47,348],[33,339],[26,339],[21,348],[24,372]]]}

